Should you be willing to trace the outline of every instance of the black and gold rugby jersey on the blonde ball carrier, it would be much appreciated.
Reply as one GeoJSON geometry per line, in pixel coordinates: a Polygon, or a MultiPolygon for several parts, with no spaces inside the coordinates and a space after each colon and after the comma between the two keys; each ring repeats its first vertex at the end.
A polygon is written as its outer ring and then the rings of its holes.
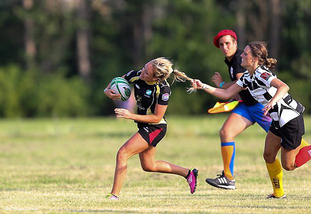
{"type": "MultiPolygon", "coordinates": [[[[163,83],[158,82],[146,82],[139,78],[141,74],[140,71],[130,71],[128,72],[124,79],[134,86],[134,96],[137,102],[137,114],[139,115],[149,115],[154,113],[156,104],[168,105],[171,95],[171,88],[167,81],[163,83]]],[[[137,122],[138,127],[142,127],[146,123],[137,122]]],[[[149,123],[149,124],[167,124],[165,117],[159,123],[149,123]]]]}

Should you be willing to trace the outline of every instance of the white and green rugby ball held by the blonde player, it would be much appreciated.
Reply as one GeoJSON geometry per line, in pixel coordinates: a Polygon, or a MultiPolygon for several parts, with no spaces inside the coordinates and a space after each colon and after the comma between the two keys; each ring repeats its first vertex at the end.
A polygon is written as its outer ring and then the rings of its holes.
{"type": "Polygon", "coordinates": [[[128,100],[131,94],[129,83],[122,77],[116,77],[111,80],[110,89],[115,91],[116,94],[120,94],[122,101],[128,100]]]}

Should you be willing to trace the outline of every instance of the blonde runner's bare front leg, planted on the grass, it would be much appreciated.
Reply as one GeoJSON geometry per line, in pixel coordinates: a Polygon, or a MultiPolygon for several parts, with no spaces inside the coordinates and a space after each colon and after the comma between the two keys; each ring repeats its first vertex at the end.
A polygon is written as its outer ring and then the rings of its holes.
{"type": "Polygon", "coordinates": [[[137,132],[119,149],[116,156],[112,194],[119,195],[126,175],[127,159],[148,148],[148,143],[137,132]]]}

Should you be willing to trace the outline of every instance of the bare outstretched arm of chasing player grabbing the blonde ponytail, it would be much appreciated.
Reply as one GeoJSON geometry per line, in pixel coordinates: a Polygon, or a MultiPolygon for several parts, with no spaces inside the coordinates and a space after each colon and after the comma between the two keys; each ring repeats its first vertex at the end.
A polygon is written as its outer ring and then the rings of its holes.
{"type": "Polygon", "coordinates": [[[240,91],[243,90],[241,86],[238,84],[233,84],[227,89],[220,89],[220,88],[214,88],[210,85],[202,83],[200,80],[192,80],[191,85],[195,89],[201,89],[204,90],[205,92],[218,97],[222,100],[228,100],[230,99],[233,95],[239,93],[240,91]]]}

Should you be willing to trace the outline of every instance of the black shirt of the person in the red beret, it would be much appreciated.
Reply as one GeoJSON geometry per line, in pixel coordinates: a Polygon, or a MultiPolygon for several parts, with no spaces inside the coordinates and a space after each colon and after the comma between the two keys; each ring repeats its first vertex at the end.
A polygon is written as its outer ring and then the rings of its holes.
{"type": "MultiPolygon", "coordinates": [[[[243,53],[242,50],[237,49],[237,51],[235,52],[230,62],[227,58],[225,58],[225,63],[228,66],[228,72],[229,72],[231,81],[237,80],[236,75],[239,73],[244,73],[246,71],[246,69],[241,66],[241,62],[242,62],[241,54],[242,53],[243,53]]],[[[257,104],[256,100],[254,100],[254,98],[252,97],[252,95],[249,93],[248,90],[243,90],[239,92],[239,95],[245,105],[251,106],[251,105],[257,104]]]]}

